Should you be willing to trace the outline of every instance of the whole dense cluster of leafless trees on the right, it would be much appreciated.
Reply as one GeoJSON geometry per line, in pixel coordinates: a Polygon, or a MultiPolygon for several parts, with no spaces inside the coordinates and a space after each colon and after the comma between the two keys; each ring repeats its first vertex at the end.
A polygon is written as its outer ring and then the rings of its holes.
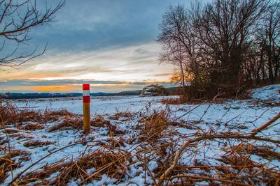
{"type": "Polygon", "coordinates": [[[246,84],[274,82],[280,69],[280,3],[214,0],[170,6],[160,24],[160,60],[188,98],[238,94],[246,84]]]}

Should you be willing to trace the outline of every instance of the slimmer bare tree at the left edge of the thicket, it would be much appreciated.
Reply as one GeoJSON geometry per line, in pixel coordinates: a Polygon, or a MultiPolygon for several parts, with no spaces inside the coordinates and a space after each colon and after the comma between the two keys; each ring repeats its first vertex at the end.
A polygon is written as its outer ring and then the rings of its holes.
{"type": "Polygon", "coordinates": [[[197,63],[199,58],[193,25],[196,19],[196,11],[200,11],[199,3],[192,6],[188,11],[182,5],[170,6],[163,15],[158,36],[158,42],[162,44],[160,61],[172,63],[181,73],[181,84],[186,93],[187,82],[200,82],[200,66],[197,63]],[[193,11],[192,11],[193,10],[193,11]]]}

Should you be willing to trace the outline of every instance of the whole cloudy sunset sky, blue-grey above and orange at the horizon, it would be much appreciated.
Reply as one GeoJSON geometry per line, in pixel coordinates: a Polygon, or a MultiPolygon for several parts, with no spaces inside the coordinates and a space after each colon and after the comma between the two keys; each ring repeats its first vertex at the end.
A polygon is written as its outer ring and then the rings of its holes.
{"type": "MultiPolygon", "coordinates": [[[[53,3],[53,1],[52,1],[53,3]]],[[[171,65],[159,64],[158,24],[175,0],[67,0],[57,22],[33,29],[29,45],[48,49],[18,68],[0,69],[1,92],[92,92],[168,86],[171,65]]],[[[3,38],[1,38],[3,42],[3,38]]],[[[12,46],[12,45],[11,45],[12,46]]],[[[5,52],[5,51],[2,51],[5,52]]]]}

